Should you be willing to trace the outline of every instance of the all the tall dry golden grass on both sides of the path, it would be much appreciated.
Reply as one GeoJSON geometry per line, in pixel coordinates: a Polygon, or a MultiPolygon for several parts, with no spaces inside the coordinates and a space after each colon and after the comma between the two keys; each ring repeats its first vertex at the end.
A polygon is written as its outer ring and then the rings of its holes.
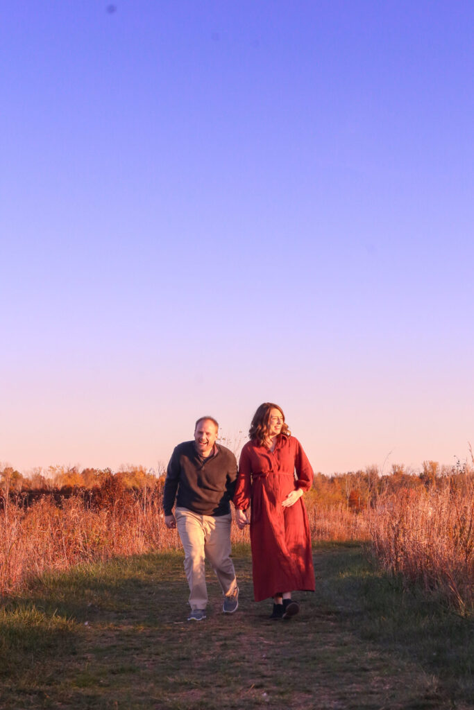
{"type": "MultiPolygon", "coordinates": [[[[401,488],[355,513],[325,505],[310,493],[306,507],[315,541],[371,540],[379,564],[460,611],[474,606],[474,480],[441,479],[437,486],[401,488]]],[[[232,542],[248,542],[232,526],[232,542]]],[[[0,498],[0,594],[11,594],[43,572],[80,562],[181,547],[163,521],[161,486],[131,490],[109,476],[95,497],[77,493],[58,505],[49,496],[29,508],[0,498]]]]}

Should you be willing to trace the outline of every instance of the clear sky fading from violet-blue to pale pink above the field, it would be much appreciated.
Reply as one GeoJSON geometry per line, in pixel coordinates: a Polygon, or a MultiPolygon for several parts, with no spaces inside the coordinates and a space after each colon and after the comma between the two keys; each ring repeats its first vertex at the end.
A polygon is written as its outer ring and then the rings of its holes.
{"type": "Polygon", "coordinates": [[[474,5],[0,8],[0,461],[279,403],[316,471],[474,444],[474,5]]]}

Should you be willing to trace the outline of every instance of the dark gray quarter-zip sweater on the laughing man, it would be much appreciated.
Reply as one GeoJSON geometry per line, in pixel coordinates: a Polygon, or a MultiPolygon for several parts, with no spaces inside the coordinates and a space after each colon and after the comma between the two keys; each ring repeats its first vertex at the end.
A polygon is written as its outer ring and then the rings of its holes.
{"type": "Polygon", "coordinates": [[[166,472],[163,510],[171,515],[173,506],[193,510],[198,515],[226,515],[237,479],[237,461],[226,447],[215,444],[215,453],[203,459],[194,441],[178,444],[166,472]]]}

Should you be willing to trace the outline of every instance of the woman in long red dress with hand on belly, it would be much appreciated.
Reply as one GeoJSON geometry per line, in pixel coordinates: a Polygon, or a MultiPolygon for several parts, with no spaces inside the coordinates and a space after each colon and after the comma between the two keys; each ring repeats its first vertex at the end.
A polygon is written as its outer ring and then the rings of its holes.
{"type": "Polygon", "coordinates": [[[289,618],[299,611],[291,591],[314,591],[311,536],[301,500],[313,483],[313,469],[276,404],[259,406],[249,438],[240,454],[233,499],[237,525],[243,530],[249,523],[246,511],[252,503],[255,601],[273,597],[270,618],[289,618]]]}

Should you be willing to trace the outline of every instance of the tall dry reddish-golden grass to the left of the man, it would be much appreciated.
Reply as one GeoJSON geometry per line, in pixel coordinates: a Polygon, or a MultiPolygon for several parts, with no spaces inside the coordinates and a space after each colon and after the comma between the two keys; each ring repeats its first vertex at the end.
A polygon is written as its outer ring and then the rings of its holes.
{"type": "Polygon", "coordinates": [[[20,589],[48,570],[65,570],[79,562],[104,561],[179,545],[166,529],[156,497],[122,496],[94,510],[80,496],[60,507],[41,498],[23,510],[11,503],[0,510],[0,594],[20,589]]]}

